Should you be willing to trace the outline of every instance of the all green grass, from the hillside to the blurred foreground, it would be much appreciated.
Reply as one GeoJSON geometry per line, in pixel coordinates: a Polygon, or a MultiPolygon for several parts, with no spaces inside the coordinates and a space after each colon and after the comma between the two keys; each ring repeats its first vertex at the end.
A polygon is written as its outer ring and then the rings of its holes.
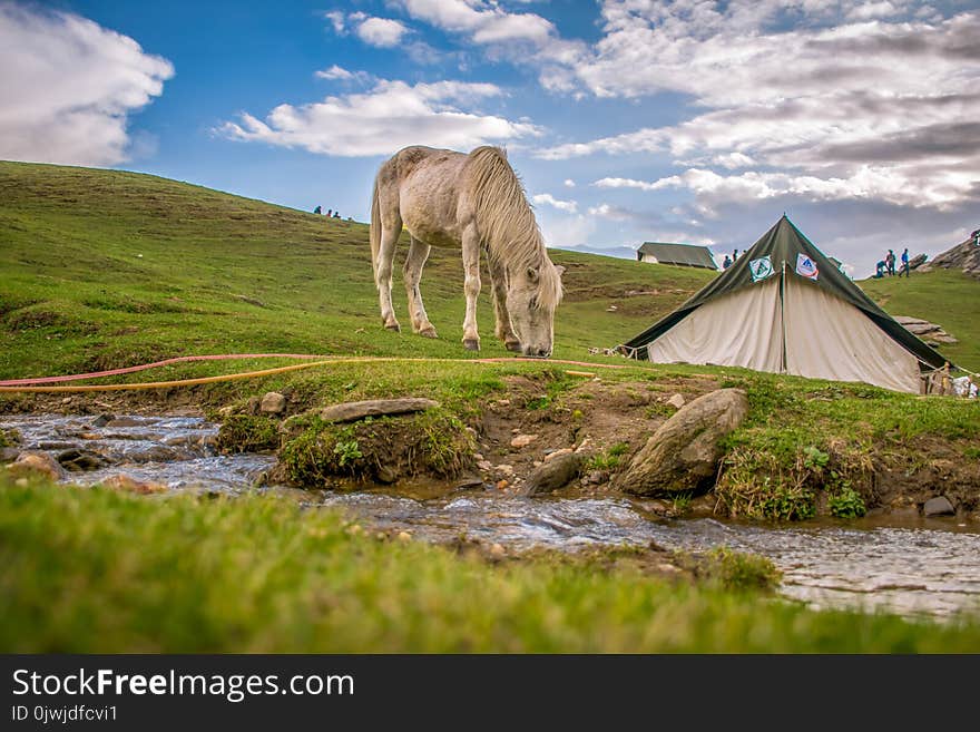
{"type": "MultiPolygon", "coordinates": [[[[366,237],[366,226],[356,222],[151,176],[0,163],[0,378],[185,354],[294,352],[462,361],[351,363],[202,387],[189,398],[214,410],[268,389],[288,389],[311,407],[415,393],[438,398],[465,418],[519,373],[557,384],[549,392],[555,404],[575,389],[567,367],[553,362],[469,362],[474,354],[460,343],[461,264],[452,252],[433,250],[422,284],[441,338],[383,330],[366,237]]],[[[551,255],[568,269],[555,359],[624,364],[588,350],[628,340],[714,276],[558,250],[551,255]]],[[[492,338],[486,282],[479,355],[506,357],[492,338]]],[[[941,272],[868,284],[890,312],[932,320],[957,335],[961,343],[948,353],[973,369],[980,368],[977,287],[941,272]]],[[[406,326],[400,286],[395,308],[406,326]]],[[[276,363],[182,364],[115,381],[276,363]]],[[[749,419],[731,441],[732,455],[741,456],[729,465],[733,495],[756,485],[766,470],[794,465],[807,449],[860,462],[933,440],[954,459],[976,458],[969,450],[976,451],[980,417],[966,402],[923,406],[915,397],[870,387],[707,367],[631,363],[604,371],[602,380],[656,384],[695,374],[748,393],[749,419]]],[[[30,398],[0,398],[0,410],[32,404],[30,398]]],[[[139,499],[2,478],[0,647],[980,650],[976,622],[923,627],[894,617],[813,613],[717,577],[695,585],[665,582],[628,557],[611,570],[553,557],[488,563],[349,529],[335,515],[304,514],[266,498],[139,499]]]]}

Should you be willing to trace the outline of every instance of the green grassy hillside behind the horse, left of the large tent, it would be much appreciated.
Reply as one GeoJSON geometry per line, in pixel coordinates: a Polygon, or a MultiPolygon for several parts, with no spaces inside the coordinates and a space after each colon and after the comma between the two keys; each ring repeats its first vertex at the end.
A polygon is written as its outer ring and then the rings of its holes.
{"type": "MultiPolygon", "coordinates": [[[[431,341],[381,328],[366,224],[148,175],[21,163],[0,163],[0,378],[192,353],[471,355],[454,251],[433,250],[423,274],[441,336],[431,341]]],[[[567,267],[561,359],[631,338],[713,276],[551,254],[567,267]]],[[[400,270],[394,296],[410,331],[400,270]]],[[[486,275],[479,323],[481,355],[507,355],[486,275]]]]}

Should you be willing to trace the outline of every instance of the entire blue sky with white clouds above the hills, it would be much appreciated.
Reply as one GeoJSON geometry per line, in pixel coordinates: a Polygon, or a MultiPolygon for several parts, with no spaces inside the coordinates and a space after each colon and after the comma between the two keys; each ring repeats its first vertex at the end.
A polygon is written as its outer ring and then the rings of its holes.
{"type": "Polygon", "coordinates": [[[980,2],[0,0],[0,159],[366,221],[415,144],[504,147],[549,246],[785,212],[862,279],[980,227],[980,2]]]}

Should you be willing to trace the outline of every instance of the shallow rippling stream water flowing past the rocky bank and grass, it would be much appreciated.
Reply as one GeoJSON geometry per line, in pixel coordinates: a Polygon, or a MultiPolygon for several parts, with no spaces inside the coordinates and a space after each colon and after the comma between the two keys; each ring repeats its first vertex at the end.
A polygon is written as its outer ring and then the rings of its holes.
{"type": "MultiPolygon", "coordinates": [[[[69,472],[66,480],[79,485],[121,472],[174,490],[238,495],[253,489],[275,460],[271,455],[218,455],[213,445],[218,426],[196,417],[122,417],[98,426],[85,416],[0,416],[0,428],[18,430],[22,449],[45,450],[62,461],[68,452],[108,462],[69,472]]],[[[783,573],[780,592],[812,607],[932,617],[980,612],[980,527],[952,518],[774,527],[712,518],[666,520],[625,498],[435,492],[427,497],[411,487],[399,494],[311,491],[303,494],[303,502],[340,508],[379,529],[409,530],[422,539],[465,535],[514,550],[650,541],[668,549],[725,546],[772,559],[783,573]]]]}

